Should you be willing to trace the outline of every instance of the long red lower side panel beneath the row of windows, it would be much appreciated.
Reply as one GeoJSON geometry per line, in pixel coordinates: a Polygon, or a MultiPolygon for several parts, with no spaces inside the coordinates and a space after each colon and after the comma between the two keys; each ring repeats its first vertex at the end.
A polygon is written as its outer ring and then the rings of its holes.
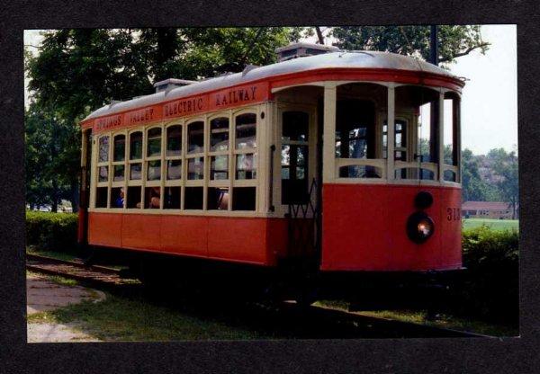
{"type": "Polygon", "coordinates": [[[239,263],[275,265],[287,250],[279,218],[89,213],[88,242],[239,263]]]}

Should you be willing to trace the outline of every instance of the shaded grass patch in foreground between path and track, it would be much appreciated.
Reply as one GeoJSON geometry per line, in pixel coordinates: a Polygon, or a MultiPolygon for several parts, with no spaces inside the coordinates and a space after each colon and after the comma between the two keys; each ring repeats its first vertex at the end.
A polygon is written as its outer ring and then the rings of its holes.
{"type": "Polygon", "coordinates": [[[103,341],[166,342],[178,340],[237,340],[263,338],[255,332],[220,321],[186,315],[155,306],[142,298],[111,294],[99,303],[80,304],[29,316],[33,323],[75,322],[85,334],[103,341]]]}

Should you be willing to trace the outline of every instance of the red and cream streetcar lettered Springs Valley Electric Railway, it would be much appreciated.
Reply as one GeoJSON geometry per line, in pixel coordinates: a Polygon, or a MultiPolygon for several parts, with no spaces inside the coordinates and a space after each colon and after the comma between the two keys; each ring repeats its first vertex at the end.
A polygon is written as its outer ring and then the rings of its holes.
{"type": "Polygon", "coordinates": [[[79,243],[147,277],[459,270],[464,79],[386,52],[276,53],[82,120],[79,243]]]}

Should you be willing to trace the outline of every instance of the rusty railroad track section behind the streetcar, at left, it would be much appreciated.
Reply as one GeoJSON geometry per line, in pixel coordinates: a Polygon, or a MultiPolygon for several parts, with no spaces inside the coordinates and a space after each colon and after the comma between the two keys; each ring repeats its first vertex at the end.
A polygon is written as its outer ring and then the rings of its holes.
{"type": "Polygon", "coordinates": [[[82,261],[65,261],[38,254],[26,254],[26,268],[33,272],[60,275],[100,287],[137,284],[138,280],[123,278],[121,271],[105,266],[85,265],[82,261]]]}

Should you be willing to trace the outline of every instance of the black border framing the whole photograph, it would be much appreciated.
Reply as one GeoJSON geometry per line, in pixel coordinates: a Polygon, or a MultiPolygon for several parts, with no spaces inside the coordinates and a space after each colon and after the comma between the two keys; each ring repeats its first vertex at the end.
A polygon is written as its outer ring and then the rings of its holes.
{"type": "MultiPolygon", "coordinates": [[[[490,372],[540,370],[540,7],[536,0],[179,2],[14,0],[0,10],[0,372],[490,372]],[[518,24],[519,338],[26,343],[23,30],[63,27],[518,24]]],[[[493,79],[504,77],[493,76],[493,79]]],[[[493,129],[496,131],[496,129],[493,129]]]]}

